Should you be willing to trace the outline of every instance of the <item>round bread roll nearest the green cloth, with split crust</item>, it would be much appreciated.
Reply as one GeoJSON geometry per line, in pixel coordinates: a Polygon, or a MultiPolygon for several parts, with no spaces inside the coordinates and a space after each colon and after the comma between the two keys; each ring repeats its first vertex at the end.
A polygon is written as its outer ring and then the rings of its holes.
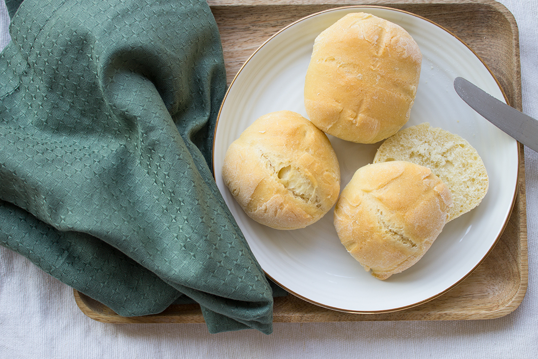
{"type": "Polygon", "coordinates": [[[313,224],[340,191],[340,168],[327,135],[291,111],[260,117],[233,141],[222,177],[250,218],[277,229],[313,224]]]}

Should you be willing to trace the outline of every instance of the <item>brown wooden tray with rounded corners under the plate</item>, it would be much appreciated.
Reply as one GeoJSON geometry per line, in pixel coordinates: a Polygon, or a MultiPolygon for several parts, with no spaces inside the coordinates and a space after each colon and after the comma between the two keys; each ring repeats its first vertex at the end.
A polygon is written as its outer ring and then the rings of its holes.
{"type": "MultiPolygon", "coordinates": [[[[220,28],[230,83],[244,61],[272,34],[311,13],[345,5],[381,5],[413,12],[447,28],[490,67],[508,102],[521,110],[519,35],[515,19],[493,0],[209,0],[220,28]]],[[[331,311],[293,295],[275,298],[275,322],[492,319],[511,313],[527,290],[525,166],[520,146],[518,196],[504,233],[482,264],[455,288],[419,306],[391,313],[331,311]]],[[[74,292],[88,317],[109,323],[203,323],[197,304],[172,305],[164,312],[125,318],[74,292]]]]}

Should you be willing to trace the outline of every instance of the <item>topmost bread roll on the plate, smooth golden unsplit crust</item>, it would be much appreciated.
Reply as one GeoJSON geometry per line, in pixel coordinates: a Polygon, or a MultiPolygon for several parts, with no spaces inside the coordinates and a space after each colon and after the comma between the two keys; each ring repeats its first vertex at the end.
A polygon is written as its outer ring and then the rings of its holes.
{"type": "Polygon", "coordinates": [[[404,126],[419,84],[422,54],[400,26],[350,13],[314,42],[305,107],[322,131],[374,143],[404,126]]]}

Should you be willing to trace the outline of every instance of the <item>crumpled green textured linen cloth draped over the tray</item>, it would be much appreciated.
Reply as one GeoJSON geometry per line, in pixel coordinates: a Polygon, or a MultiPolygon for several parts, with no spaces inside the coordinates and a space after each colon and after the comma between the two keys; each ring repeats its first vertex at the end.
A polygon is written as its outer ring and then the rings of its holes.
{"type": "Polygon", "coordinates": [[[226,88],[208,4],[6,5],[0,243],[120,315],[192,299],[211,333],[271,333],[272,284],[208,166],[226,88]]]}

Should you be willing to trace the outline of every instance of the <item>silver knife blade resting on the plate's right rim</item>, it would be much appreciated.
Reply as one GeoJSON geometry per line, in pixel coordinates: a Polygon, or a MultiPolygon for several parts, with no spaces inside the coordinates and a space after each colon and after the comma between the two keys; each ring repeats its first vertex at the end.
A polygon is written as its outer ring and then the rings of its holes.
{"type": "Polygon", "coordinates": [[[454,80],[454,89],[465,103],[512,138],[538,152],[538,121],[508,106],[462,77],[454,80]]]}

